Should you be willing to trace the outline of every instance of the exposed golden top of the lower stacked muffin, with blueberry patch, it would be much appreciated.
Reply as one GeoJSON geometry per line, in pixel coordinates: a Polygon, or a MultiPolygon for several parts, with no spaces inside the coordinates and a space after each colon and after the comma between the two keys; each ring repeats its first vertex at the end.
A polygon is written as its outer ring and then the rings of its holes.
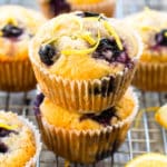
{"type": "Polygon", "coordinates": [[[130,91],[124,96],[116,107],[104,110],[98,115],[82,115],[76,110],[69,111],[65,108],[56,106],[48,98],[43,97],[43,95],[38,95],[36,100],[36,114],[39,114],[40,111],[43,119],[57,127],[65,129],[88,130],[101,129],[125,120],[134,112],[136,106],[136,98],[130,91]]]}

